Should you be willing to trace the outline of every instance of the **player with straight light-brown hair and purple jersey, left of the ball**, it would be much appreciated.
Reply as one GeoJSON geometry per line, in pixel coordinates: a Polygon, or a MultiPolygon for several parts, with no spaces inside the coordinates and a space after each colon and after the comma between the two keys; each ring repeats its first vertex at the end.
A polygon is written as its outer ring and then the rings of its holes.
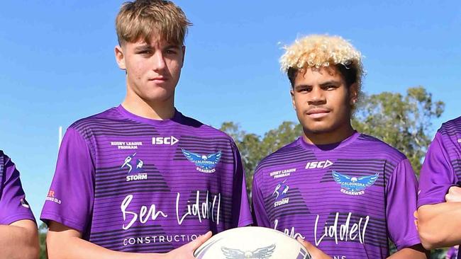
{"type": "Polygon", "coordinates": [[[233,140],[174,108],[189,25],[171,1],[121,7],[126,98],[67,129],[41,214],[50,259],[193,258],[207,231],[252,224],[233,140]]]}

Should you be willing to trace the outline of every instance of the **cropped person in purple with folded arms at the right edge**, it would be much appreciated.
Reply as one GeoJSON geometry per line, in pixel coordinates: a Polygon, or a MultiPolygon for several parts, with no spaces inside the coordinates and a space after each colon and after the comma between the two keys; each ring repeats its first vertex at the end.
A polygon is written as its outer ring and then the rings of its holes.
{"type": "Polygon", "coordinates": [[[423,246],[461,244],[461,117],[443,123],[435,133],[419,181],[418,231],[423,246]]]}

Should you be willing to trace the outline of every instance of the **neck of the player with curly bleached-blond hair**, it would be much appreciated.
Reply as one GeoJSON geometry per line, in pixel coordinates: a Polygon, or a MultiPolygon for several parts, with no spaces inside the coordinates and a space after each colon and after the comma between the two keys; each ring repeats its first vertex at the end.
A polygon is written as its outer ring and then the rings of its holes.
{"type": "Polygon", "coordinates": [[[309,132],[304,129],[303,139],[308,144],[325,145],[342,142],[344,139],[352,136],[352,134],[354,134],[354,129],[348,123],[331,132],[309,132]]]}

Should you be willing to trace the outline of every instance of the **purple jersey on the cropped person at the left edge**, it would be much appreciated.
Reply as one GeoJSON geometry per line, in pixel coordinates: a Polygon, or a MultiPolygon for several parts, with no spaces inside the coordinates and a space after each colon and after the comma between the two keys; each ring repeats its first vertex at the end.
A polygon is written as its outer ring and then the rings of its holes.
{"type": "Polygon", "coordinates": [[[0,224],[9,225],[22,219],[35,221],[21,186],[19,171],[0,150],[0,224]]]}

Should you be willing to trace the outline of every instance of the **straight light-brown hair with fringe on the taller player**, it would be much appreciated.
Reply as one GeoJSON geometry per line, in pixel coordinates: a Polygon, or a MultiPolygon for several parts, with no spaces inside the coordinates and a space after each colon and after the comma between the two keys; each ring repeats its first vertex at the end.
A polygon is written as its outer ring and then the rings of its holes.
{"type": "Polygon", "coordinates": [[[153,33],[172,44],[183,45],[192,23],[172,1],[137,0],[124,3],[116,18],[118,44],[144,40],[150,44],[153,33]]]}

